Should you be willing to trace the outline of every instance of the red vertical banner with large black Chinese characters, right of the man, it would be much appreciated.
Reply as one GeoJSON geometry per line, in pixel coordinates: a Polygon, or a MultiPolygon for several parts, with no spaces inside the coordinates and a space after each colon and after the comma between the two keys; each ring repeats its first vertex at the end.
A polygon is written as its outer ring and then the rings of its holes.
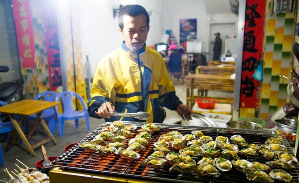
{"type": "Polygon", "coordinates": [[[261,81],[253,76],[257,66],[261,63],[264,40],[266,0],[247,0],[243,59],[242,59],[242,78],[240,107],[256,108],[259,102],[259,87],[261,81]]]}

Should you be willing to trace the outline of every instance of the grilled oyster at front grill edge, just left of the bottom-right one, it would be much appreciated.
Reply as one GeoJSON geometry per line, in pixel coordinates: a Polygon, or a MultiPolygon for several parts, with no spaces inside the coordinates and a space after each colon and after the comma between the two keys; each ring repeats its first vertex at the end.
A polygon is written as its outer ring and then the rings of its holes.
{"type": "Polygon", "coordinates": [[[263,171],[255,170],[252,168],[244,169],[244,173],[249,181],[259,182],[259,183],[274,183],[274,180],[263,171]]]}

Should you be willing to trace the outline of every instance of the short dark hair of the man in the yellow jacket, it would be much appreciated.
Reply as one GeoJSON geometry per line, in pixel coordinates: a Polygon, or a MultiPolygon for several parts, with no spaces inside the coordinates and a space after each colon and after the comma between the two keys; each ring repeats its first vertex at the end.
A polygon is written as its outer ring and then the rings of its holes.
{"type": "Polygon", "coordinates": [[[129,15],[129,16],[138,16],[144,14],[146,15],[147,18],[147,26],[149,28],[149,14],[148,11],[141,5],[138,4],[129,4],[126,6],[123,6],[120,10],[119,10],[119,14],[118,14],[118,19],[119,19],[119,27],[123,30],[124,28],[124,23],[123,23],[123,16],[124,15],[129,15]]]}

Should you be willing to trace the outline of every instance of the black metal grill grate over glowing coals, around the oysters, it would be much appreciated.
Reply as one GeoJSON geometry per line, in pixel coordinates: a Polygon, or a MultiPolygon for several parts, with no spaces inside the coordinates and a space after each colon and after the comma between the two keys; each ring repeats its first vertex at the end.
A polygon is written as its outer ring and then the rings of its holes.
{"type": "MultiPolygon", "coordinates": [[[[140,126],[143,123],[134,123],[134,122],[124,122],[125,124],[134,124],[137,125],[140,129],[140,126]]],[[[94,139],[98,135],[101,129],[106,128],[111,123],[106,122],[94,132],[90,133],[86,138],[81,142],[86,142],[94,139]]],[[[160,131],[154,132],[149,141],[149,145],[146,146],[147,149],[141,153],[141,158],[138,160],[128,160],[123,159],[120,156],[110,155],[110,156],[101,156],[95,153],[85,153],[84,149],[75,145],[69,149],[66,153],[58,157],[54,162],[53,166],[62,167],[66,170],[77,171],[77,172],[87,172],[93,174],[105,174],[112,176],[120,177],[131,177],[139,179],[147,179],[151,181],[159,182],[180,182],[180,183],[247,183],[246,175],[237,171],[234,167],[231,171],[220,172],[221,175],[212,176],[212,177],[197,177],[194,175],[185,175],[185,174],[171,174],[169,169],[171,165],[165,164],[162,168],[149,168],[142,166],[141,163],[143,160],[148,158],[153,152],[153,144],[158,140],[158,137],[162,134],[178,131],[182,135],[190,134],[191,131],[200,130],[204,135],[210,136],[215,140],[217,136],[225,136],[229,138],[230,143],[233,142],[230,140],[232,135],[241,135],[248,144],[257,144],[262,145],[269,137],[279,137],[280,135],[275,134],[273,131],[248,131],[248,130],[236,130],[236,129],[222,129],[222,128],[206,128],[206,127],[192,127],[192,126],[182,126],[182,125],[161,125],[160,131]]],[[[133,136],[132,138],[134,138],[133,136]]],[[[283,145],[288,147],[290,154],[294,155],[289,143],[283,138],[283,145]]],[[[126,146],[127,147],[127,146],[126,146]]],[[[169,148],[171,151],[176,151],[173,148],[169,148]]],[[[266,163],[268,160],[263,156],[258,156],[256,158],[246,157],[242,154],[238,154],[240,159],[245,159],[250,162],[258,161],[260,163],[266,163]]],[[[198,162],[198,159],[196,159],[198,162]]],[[[289,172],[293,176],[291,183],[298,183],[299,180],[299,166],[296,165],[296,168],[289,172]]]]}

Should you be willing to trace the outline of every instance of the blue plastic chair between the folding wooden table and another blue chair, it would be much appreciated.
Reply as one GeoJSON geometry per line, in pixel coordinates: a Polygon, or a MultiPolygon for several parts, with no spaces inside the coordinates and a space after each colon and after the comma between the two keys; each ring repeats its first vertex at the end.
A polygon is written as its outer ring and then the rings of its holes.
{"type": "MultiPolygon", "coordinates": [[[[36,97],[34,97],[34,100],[44,100],[44,101],[54,102],[57,95],[58,94],[56,92],[46,91],[46,92],[42,92],[42,93],[38,94],[36,97]]],[[[44,121],[48,122],[49,130],[50,130],[51,134],[55,135],[55,129],[57,128],[55,110],[52,107],[44,110],[41,114],[41,118],[44,121]]],[[[35,119],[36,119],[35,114],[29,116],[29,120],[35,120],[35,119]]],[[[27,124],[26,124],[26,132],[27,133],[28,133],[28,129],[29,129],[29,121],[27,121],[27,124]]]]}

